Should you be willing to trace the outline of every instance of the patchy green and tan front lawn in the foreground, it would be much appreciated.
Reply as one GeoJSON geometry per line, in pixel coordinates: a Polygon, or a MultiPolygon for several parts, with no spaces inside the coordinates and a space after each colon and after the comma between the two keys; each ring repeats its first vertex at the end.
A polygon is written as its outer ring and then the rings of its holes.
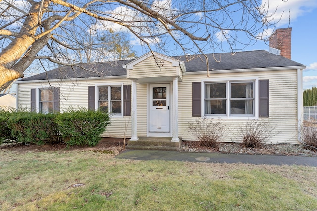
{"type": "Polygon", "coordinates": [[[316,167],[113,157],[1,150],[0,210],[317,210],[316,167]]]}

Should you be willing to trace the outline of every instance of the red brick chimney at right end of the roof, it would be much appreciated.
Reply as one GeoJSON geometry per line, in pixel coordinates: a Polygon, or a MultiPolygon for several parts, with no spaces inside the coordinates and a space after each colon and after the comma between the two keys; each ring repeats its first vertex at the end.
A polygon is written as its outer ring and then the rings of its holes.
{"type": "Polygon", "coordinates": [[[279,49],[280,55],[291,59],[292,28],[276,29],[269,38],[269,47],[279,49]]]}

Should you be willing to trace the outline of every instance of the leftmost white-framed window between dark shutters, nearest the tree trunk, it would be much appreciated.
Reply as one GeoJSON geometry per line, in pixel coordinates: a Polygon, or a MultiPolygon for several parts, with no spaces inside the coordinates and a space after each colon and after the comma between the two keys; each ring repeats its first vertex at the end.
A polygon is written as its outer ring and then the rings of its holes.
{"type": "Polygon", "coordinates": [[[42,88],[39,89],[39,112],[53,113],[53,89],[42,88]]]}

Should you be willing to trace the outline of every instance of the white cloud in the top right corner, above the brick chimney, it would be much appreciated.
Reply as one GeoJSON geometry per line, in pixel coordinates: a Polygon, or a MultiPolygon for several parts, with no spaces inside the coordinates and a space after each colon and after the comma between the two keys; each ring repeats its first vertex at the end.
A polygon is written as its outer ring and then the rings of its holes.
{"type": "Polygon", "coordinates": [[[269,19],[279,21],[276,26],[280,27],[311,12],[317,7],[317,0],[262,0],[262,5],[268,9],[269,19]]]}

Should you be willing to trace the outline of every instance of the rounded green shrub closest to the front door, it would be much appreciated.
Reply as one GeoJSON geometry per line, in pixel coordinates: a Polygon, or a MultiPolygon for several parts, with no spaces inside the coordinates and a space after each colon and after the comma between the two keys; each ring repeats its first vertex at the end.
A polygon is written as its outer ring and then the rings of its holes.
{"type": "Polygon", "coordinates": [[[58,115],[56,122],[68,146],[95,146],[110,124],[110,118],[106,112],[80,108],[58,115]]]}

